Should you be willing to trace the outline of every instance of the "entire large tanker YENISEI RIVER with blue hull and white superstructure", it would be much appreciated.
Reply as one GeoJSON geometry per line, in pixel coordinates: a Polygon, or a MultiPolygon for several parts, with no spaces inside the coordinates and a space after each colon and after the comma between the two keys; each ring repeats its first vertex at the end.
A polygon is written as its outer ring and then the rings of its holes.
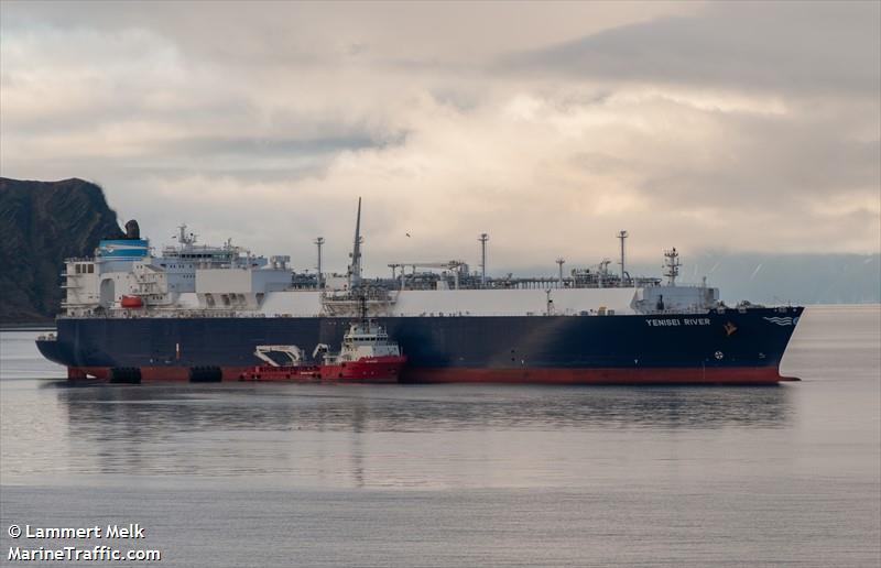
{"type": "MultiPolygon", "coordinates": [[[[261,346],[317,353],[344,345],[352,320],[369,318],[405,356],[396,380],[412,383],[773,384],[802,307],[726,306],[719,291],[678,280],[676,249],[664,278],[609,260],[555,277],[488,277],[481,263],[394,262],[391,277],[361,269],[361,204],[345,274],[297,273],[227,241],[153,253],[135,221],[101,241],[93,258],[65,262],[66,297],[44,357],[70,380],[239,380],[265,361],[261,346]],[[259,357],[260,356],[260,357],[259,357]]],[[[398,371],[395,371],[398,373],[398,371]]]]}

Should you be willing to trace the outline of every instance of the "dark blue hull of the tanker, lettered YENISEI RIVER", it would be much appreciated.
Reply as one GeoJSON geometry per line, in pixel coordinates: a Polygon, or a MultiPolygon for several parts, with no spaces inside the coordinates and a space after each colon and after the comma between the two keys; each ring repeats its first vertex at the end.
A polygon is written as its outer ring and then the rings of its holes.
{"type": "MultiPolygon", "coordinates": [[[[379,318],[407,357],[402,381],[773,383],[803,308],[708,314],[379,318]]],[[[186,380],[194,369],[237,379],[258,345],[336,349],[346,318],[58,318],[37,341],[72,378],[137,370],[186,380]]]]}

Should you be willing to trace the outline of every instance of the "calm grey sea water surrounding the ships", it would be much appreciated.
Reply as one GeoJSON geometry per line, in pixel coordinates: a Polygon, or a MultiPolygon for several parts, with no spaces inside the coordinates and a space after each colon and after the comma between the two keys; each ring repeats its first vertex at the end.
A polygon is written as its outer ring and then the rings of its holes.
{"type": "Polygon", "coordinates": [[[13,523],[140,523],[159,566],[881,565],[878,306],[808,309],[777,387],[72,387],[35,336],[0,564],[70,544],[13,523]]]}

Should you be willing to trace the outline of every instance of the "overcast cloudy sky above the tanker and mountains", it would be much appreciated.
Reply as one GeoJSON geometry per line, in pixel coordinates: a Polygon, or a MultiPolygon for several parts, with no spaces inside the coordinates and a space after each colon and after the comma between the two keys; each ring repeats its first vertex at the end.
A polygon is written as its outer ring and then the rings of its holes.
{"type": "Polygon", "coordinates": [[[363,196],[370,273],[881,248],[875,1],[0,7],[2,175],[154,244],[344,269],[363,196]]]}

